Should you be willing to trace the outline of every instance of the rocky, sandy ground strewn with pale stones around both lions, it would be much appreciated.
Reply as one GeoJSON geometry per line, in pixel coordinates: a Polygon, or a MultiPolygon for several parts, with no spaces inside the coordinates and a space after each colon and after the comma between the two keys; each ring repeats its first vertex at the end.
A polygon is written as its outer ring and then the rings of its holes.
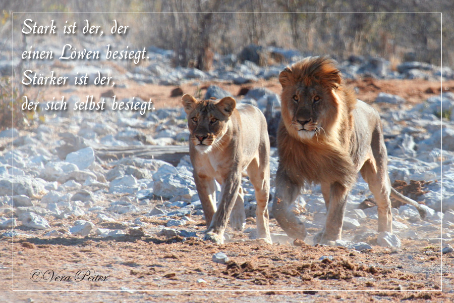
{"type": "MultiPolygon", "coordinates": [[[[201,240],[205,225],[184,156],[189,132],[180,95],[231,94],[262,110],[272,104],[278,112],[275,77],[283,65],[264,68],[226,56],[204,73],[169,69],[169,56],[154,54],[149,66],[131,72],[111,66],[121,75],[113,91],[94,86],[28,91],[47,100],[65,94],[69,104],[87,93],[96,100],[116,94],[124,102],[135,96],[132,102],[140,104],[151,98],[154,111],[42,110],[30,127],[0,133],[0,270],[7,281],[2,287],[44,291],[9,292],[4,299],[38,302],[50,290],[71,290],[52,300],[452,300],[451,70],[422,63],[393,70],[383,60],[364,58],[341,63],[348,84],[382,117],[391,182],[423,205],[426,218],[414,207],[394,204],[394,234],[377,234],[376,206],[359,177],[336,247],[312,246],[326,213],[319,186],[307,188],[294,206],[306,221],[305,241],[294,242],[271,219],[274,243],[264,244],[254,240],[256,204],[245,177],[246,229],[228,229],[226,243],[217,246],[201,240]],[[174,91],[177,86],[180,91],[174,91]],[[168,162],[150,159],[146,150],[156,146],[178,153],[168,162]],[[37,269],[41,273],[33,275],[37,269]]],[[[271,192],[277,160],[272,148],[271,192]]]]}

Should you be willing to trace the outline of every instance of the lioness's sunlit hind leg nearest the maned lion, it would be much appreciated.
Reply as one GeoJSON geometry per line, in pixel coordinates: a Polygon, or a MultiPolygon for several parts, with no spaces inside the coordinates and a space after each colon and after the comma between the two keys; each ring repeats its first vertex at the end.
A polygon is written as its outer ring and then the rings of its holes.
{"type": "Polygon", "coordinates": [[[257,209],[255,210],[257,220],[257,239],[264,239],[272,243],[269,233],[268,197],[269,197],[269,162],[258,166],[257,161],[249,165],[248,176],[255,189],[257,209]]]}

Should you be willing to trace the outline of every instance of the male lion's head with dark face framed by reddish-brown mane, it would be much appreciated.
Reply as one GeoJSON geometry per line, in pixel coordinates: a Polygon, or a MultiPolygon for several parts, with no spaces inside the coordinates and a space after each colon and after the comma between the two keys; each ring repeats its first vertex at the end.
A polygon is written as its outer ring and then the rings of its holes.
{"type": "Polygon", "coordinates": [[[289,133],[301,140],[319,139],[337,119],[337,86],[341,78],[334,63],[326,58],[307,58],[284,69],[282,120],[289,133]]]}

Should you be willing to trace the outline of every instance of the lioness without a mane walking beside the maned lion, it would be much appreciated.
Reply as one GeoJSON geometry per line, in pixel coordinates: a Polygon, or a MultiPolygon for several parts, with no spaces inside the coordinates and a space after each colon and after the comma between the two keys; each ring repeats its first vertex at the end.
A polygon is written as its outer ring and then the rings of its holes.
{"type": "Polygon", "coordinates": [[[190,132],[189,156],[208,229],[205,240],[222,244],[230,216],[235,230],[246,222],[241,175],[244,169],[257,199],[257,238],[271,243],[268,226],[269,139],[259,109],[236,105],[232,97],[202,100],[182,97],[190,132]],[[216,180],[221,185],[216,210],[216,180]]]}

